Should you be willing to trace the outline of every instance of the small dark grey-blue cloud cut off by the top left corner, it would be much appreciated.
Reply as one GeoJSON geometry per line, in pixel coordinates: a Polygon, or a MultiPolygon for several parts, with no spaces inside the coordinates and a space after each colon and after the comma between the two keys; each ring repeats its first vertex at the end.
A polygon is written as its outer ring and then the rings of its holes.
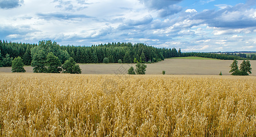
{"type": "Polygon", "coordinates": [[[0,0],[1,9],[12,9],[23,4],[23,0],[0,0]]]}

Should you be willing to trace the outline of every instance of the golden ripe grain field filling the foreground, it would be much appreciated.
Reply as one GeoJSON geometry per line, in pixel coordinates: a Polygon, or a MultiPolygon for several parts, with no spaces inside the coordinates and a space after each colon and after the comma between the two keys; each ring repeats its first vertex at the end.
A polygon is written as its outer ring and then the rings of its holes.
{"type": "Polygon", "coordinates": [[[256,77],[0,74],[0,136],[256,136],[256,77]]]}

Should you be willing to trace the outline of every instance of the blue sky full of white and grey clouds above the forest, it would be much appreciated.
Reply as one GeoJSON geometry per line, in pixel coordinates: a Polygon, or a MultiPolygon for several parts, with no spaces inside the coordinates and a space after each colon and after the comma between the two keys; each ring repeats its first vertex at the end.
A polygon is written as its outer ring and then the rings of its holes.
{"type": "Polygon", "coordinates": [[[0,0],[0,39],[256,51],[256,0],[0,0]]]}

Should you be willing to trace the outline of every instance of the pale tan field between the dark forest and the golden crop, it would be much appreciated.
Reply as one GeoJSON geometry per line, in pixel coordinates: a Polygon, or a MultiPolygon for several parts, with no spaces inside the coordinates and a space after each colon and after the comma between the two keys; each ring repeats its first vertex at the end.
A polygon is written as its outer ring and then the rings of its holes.
{"type": "MultiPolygon", "coordinates": [[[[173,75],[218,75],[220,71],[223,75],[230,75],[230,64],[233,60],[218,60],[199,57],[184,58],[167,58],[158,63],[147,64],[146,74],[162,74],[165,70],[166,74],[173,75]]],[[[238,61],[239,65],[242,63],[238,61]]],[[[79,64],[82,74],[127,74],[127,70],[135,64],[79,64]],[[122,70],[120,70],[122,69],[122,70]],[[125,71],[124,71],[125,69],[125,71]]],[[[33,72],[30,66],[24,67],[28,73],[33,72]]],[[[251,61],[252,74],[256,76],[256,61],[251,61]]],[[[11,72],[11,67],[2,67],[0,72],[11,72]]]]}

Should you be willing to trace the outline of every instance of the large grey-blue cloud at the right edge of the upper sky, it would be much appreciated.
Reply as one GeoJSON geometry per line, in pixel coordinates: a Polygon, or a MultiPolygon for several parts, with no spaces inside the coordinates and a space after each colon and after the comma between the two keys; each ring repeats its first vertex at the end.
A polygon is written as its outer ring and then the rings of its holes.
{"type": "Polygon", "coordinates": [[[227,6],[219,11],[205,10],[191,17],[191,19],[203,20],[212,27],[223,28],[247,28],[256,26],[256,18],[250,13],[255,9],[248,9],[247,4],[238,4],[234,7],[227,6]]]}

